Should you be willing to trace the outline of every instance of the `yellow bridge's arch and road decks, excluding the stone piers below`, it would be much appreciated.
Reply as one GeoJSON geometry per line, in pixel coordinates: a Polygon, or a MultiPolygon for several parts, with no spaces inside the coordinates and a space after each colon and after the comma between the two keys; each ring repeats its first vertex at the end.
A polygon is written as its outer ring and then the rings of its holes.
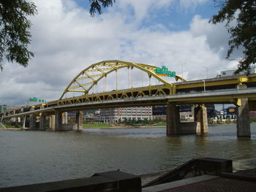
{"type": "MultiPolygon", "coordinates": [[[[131,106],[166,105],[166,104],[223,104],[230,103],[241,106],[241,99],[248,98],[250,110],[256,110],[256,74],[246,76],[231,76],[211,78],[206,80],[187,81],[176,74],[176,81],[167,82],[156,73],[157,66],[147,64],[136,64],[127,61],[109,60],[91,64],[83,69],[64,89],[61,97],[55,101],[36,104],[30,107],[22,107],[20,110],[10,112],[8,117],[18,117],[31,113],[54,112],[55,110],[70,111],[97,109],[103,107],[118,107],[123,101],[124,107],[128,103],[131,106]],[[148,85],[138,88],[115,89],[93,93],[91,90],[97,86],[102,78],[107,78],[113,72],[120,69],[136,68],[145,72],[149,78],[155,77],[160,85],[148,85]],[[247,89],[238,91],[237,86],[244,85],[247,89]],[[204,93],[205,88],[212,93],[204,93]],[[238,93],[232,93],[229,90],[238,93]],[[90,92],[91,91],[91,92],[90,92]],[[229,91],[229,92],[228,92],[229,91]],[[253,93],[252,93],[253,92],[253,93]],[[67,96],[67,93],[80,93],[80,96],[67,96]],[[180,94],[182,93],[182,94],[180,94]],[[225,93],[223,95],[222,93],[225,93]],[[145,100],[145,102],[142,101],[145,100]],[[115,104],[113,104],[115,103],[115,104]],[[89,107],[90,106],[90,107],[89,107]]],[[[3,114],[0,114],[0,116],[3,114]]]]}

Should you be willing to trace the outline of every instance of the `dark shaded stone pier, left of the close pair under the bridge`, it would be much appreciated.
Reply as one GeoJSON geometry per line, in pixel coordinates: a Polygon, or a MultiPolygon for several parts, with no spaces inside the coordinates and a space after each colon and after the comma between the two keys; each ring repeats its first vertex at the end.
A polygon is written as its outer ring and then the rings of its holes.
{"type": "Polygon", "coordinates": [[[177,135],[178,128],[180,127],[180,115],[179,115],[179,107],[175,104],[167,105],[167,127],[166,134],[167,135],[177,135]]]}

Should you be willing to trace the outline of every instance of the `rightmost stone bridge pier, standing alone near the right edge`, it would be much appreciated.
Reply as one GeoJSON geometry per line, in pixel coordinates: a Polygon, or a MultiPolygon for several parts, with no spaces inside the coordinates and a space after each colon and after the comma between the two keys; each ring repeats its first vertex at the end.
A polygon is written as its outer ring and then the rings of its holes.
{"type": "Polygon", "coordinates": [[[237,137],[251,137],[251,128],[249,123],[249,105],[248,99],[239,99],[240,106],[236,107],[236,133],[237,137]]]}

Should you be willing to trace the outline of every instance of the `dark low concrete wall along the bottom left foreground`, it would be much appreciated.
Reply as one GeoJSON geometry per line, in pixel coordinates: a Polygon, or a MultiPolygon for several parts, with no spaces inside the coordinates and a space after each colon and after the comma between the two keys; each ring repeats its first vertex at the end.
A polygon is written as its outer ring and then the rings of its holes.
{"type": "Polygon", "coordinates": [[[1,192],[74,192],[74,191],[109,191],[109,192],[141,192],[141,179],[134,174],[125,172],[102,172],[75,180],[63,180],[34,185],[22,185],[10,188],[0,188],[1,192]]]}

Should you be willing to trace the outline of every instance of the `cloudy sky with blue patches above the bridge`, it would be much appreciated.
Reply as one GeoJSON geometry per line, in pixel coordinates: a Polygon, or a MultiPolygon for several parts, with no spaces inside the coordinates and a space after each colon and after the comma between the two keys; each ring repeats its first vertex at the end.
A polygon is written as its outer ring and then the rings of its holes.
{"type": "Polygon", "coordinates": [[[29,50],[35,56],[26,68],[3,63],[0,104],[23,105],[34,96],[59,99],[76,74],[102,60],[165,65],[177,74],[183,66],[187,80],[236,68],[236,61],[225,60],[224,24],[208,23],[218,10],[212,0],[116,0],[94,18],[89,0],[34,3],[38,15],[31,18],[29,50]]]}

